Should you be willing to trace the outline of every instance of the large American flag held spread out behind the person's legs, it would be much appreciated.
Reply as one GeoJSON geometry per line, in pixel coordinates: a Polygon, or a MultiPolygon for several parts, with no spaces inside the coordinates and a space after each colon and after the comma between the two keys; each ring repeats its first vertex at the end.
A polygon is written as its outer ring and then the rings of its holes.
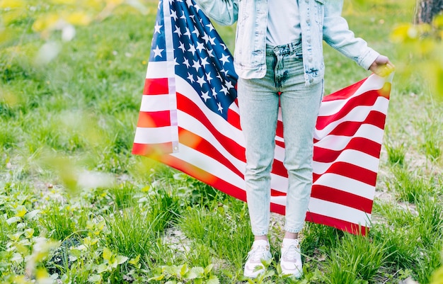
{"type": "MultiPolygon", "coordinates": [[[[132,153],[246,201],[236,79],[231,53],[197,4],[160,1],[132,153]]],[[[372,75],[323,99],[307,221],[366,232],[390,89],[389,79],[372,75]]],[[[287,171],[280,118],[270,210],[284,214],[287,171]]]]}

